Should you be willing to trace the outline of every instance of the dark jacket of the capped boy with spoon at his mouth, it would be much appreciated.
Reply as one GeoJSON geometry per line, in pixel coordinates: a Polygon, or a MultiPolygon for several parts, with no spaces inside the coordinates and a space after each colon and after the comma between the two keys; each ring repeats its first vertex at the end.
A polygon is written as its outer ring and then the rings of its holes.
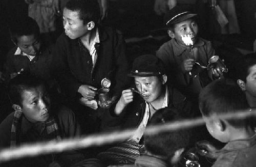
{"type": "MultiPolygon", "coordinates": [[[[177,108],[182,112],[182,116],[186,118],[191,118],[197,115],[196,109],[193,107],[193,103],[191,103],[191,101],[189,101],[177,89],[169,86],[168,91],[168,107],[177,108]]],[[[145,107],[145,100],[136,94],[133,102],[124,108],[120,116],[115,116],[113,113],[114,108],[111,109],[104,117],[105,120],[103,122],[103,126],[106,130],[109,130],[108,128],[111,129],[112,127],[135,128],[142,121],[145,113],[145,107]]]]}

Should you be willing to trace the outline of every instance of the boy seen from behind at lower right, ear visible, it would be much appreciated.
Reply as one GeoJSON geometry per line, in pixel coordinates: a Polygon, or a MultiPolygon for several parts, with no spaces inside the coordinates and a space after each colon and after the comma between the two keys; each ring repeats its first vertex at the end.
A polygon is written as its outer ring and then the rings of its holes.
{"type": "Polygon", "coordinates": [[[217,151],[216,166],[255,166],[256,136],[247,119],[226,119],[222,114],[249,110],[245,94],[235,82],[219,79],[203,88],[199,107],[209,133],[227,143],[217,151]]]}

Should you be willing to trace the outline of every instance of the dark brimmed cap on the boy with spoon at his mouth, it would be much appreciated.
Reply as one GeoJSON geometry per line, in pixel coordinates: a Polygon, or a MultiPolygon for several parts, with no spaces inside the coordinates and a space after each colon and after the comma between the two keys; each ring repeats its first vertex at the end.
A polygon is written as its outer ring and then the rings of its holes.
{"type": "Polygon", "coordinates": [[[140,55],[133,62],[132,71],[128,76],[157,76],[165,74],[163,62],[152,54],[140,55]]]}

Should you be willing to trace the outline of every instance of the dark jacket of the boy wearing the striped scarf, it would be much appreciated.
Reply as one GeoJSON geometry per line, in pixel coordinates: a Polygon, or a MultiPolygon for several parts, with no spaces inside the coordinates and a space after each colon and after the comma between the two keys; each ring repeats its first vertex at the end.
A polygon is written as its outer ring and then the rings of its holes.
{"type": "MultiPolygon", "coordinates": [[[[54,112],[55,121],[58,125],[59,135],[62,139],[65,138],[73,138],[76,136],[80,136],[80,126],[76,122],[76,118],[72,110],[65,106],[52,106],[52,112],[54,112]]],[[[14,113],[11,113],[1,124],[0,124],[0,148],[10,147],[11,141],[11,129],[12,122],[14,118],[14,113]]],[[[43,127],[43,131],[40,134],[34,133],[34,126],[32,123],[27,121],[27,119],[22,116],[21,118],[21,129],[17,131],[17,145],[21,145],[24,143],[39,142],[39,141],[47,141],[52,138],[46,137],[46,127],[43,127]],[[33,138],[28,138],[28,136],[32,136],[33,138]]],[[[10,163],[3,163],[1,166],[49,166],[49,163],[54,160],[57,161],[61,166],[70,166],[77,161],[80,161],[84,158],[82,153],[78,150],[70,150],[64,151],[60,154],[46,154],[46,155],[38,155],[33,156],[32,158],[26,157],[23,159],[18,159],[10,161],[10,163]]]]}

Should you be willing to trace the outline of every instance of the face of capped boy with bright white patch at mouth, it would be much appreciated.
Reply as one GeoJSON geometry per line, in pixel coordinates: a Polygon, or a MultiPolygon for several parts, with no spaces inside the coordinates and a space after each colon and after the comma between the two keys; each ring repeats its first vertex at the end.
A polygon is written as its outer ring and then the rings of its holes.
{"type": "Polygon", "coordinates": [[[198,25],[194,19],[187,19],[185,21],[175,24],[173,35],[170,37],[175,38],[179,43],[184,44],[181,37],[188,35],[193,43],[197,41],[198,25]]]}

